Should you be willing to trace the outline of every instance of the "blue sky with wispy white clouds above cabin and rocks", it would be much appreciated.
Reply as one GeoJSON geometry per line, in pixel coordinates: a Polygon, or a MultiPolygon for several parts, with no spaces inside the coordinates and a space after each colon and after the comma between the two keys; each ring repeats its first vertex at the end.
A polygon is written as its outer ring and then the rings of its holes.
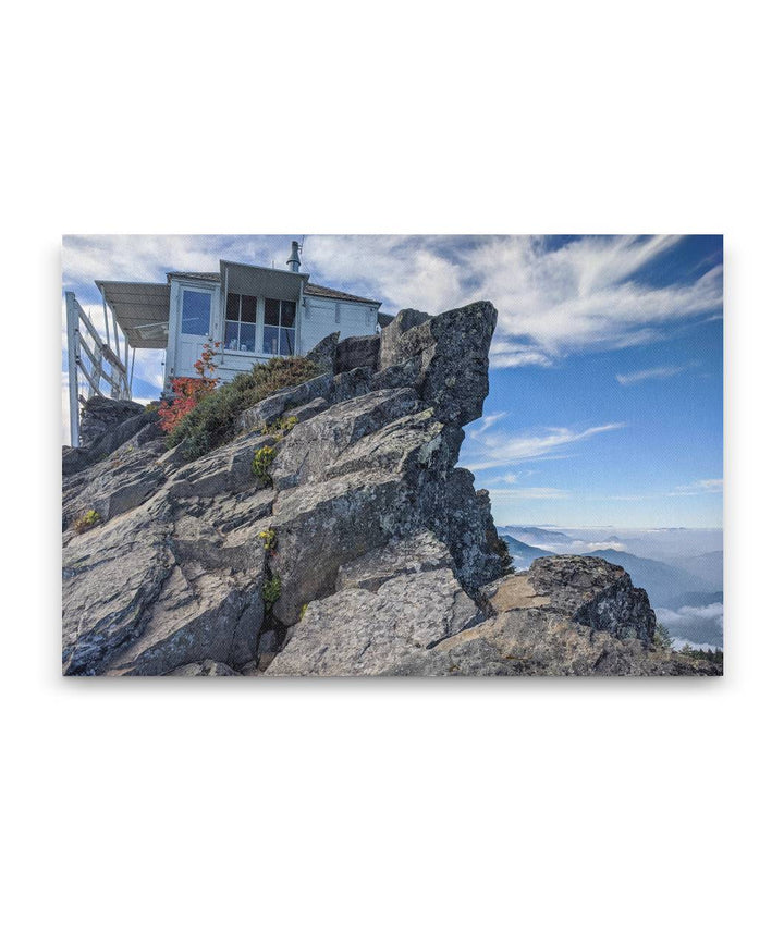
{"type": "MultiPolygon", "coordinates": [[[[97,278],[283,267],[292,238],[68,236],[64,287],[98,322],[97,278]]],[[[490,395],[461,464],[497,522],[721,526],[720,236],[308,235],[303,271],[388,312],[495,305],[490,395]]],[[[137,398],[160,392],[161,360],[137,354],[137,398]]]]}

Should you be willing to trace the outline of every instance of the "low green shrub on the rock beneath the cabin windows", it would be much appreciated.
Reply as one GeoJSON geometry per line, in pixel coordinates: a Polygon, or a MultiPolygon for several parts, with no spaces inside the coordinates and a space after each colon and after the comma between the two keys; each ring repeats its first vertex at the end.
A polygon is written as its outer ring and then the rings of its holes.
{"type": "Polygon", "coordinates": [[[168,436],[167,446],[171,449],[182,443],[185,459],[197,459],[235,436],[234,424],[242,412],[318,373],[316,364],[303,356],[257,364],[249,372],[241,372],[231,382],[201,397],[168,436]]]}

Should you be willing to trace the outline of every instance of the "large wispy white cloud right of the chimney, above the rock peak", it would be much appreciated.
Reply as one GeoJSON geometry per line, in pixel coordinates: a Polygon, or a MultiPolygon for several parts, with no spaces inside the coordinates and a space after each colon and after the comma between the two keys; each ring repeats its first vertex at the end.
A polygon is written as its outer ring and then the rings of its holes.
{"type": "Polygon", "coordinates": [[[385,310],[429,312],[488,298],[499,310],[497,368],[547,366],[585,348],[660,339],[667,324],[715,316],[722,267],[685,284],[635,277],[679,236],[585,236],[560,248],[540,236],[308,238],[308,261],[324,278],[360,282],[385,310]],[[449,246],[451,258],[442,253],[449,246]]]}

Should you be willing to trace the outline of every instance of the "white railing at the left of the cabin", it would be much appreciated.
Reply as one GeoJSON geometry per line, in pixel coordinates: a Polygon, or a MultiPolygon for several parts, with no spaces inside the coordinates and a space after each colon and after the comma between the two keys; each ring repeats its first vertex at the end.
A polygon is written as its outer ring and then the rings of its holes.
{"type": "MultiPolygon", "coordinates": [[[[108,342],[105,342],[96,330],[93,321],[73,292],[65,292],[65,321],[68,328],[69,351],[69,405],[71,415],[71,445],[79,445],[79,402],[86,398],[79,394],[78,377],[84,376],[87,382],[87,397],[105,395],[112,398],[131,400],[131,385],[127,378],[127,343],[125,346],[125,364],[120,359],[120,338],[117,320],[114,320],[114,342],[117,353],[108,342]],[[106,368],[105,368],[106,364],[106,368]]],[[[107,341],[109,340],[109,321],[107,319],[107,341]]]]}

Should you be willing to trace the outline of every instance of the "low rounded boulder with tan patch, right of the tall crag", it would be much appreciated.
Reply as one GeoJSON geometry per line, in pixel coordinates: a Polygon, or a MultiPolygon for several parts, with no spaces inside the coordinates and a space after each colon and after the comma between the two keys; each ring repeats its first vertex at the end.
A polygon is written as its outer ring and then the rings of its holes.
{"type": "Polygon", "coordinates": [[[407,676],[714,675],[715,665],[656,649],[642,589],[603,560],[541,557],[487,587],[487,621],[412,652],[389,672],[407,676]],[[537,566],[537,564],[539,564],[537,566]],[[629,618],[634,624],[629,624],[629,618]]]}

